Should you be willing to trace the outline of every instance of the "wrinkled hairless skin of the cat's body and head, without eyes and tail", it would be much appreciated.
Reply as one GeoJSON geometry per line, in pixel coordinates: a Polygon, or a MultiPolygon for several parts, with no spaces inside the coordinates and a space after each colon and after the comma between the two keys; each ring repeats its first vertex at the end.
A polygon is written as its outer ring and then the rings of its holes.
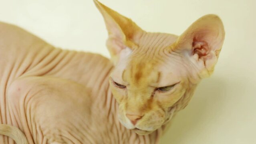
{"type": "MultiPolygon", "coordinates": [[[[111,61],[0,23],[0,124],[19,128],[29,144],[158,143],[214,70],[224,40],[217,16],[200,18],[178,37],[145,32],[95,4],[111,61]]],[[[14,141],[0,135],[0,144],[14,141]]]]}

